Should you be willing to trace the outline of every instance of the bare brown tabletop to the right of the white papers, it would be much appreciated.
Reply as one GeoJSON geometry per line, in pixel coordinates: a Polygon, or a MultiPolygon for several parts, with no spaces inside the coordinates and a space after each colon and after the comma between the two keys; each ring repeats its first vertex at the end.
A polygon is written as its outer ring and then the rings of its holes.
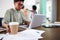
{"type": "Polygon", "coordinates": [[[60,28],[44,28],[37,27],[34,29],[44,30],[45,33],[42,34],[43,38],[40,40],[60,40],[60,28]]]}

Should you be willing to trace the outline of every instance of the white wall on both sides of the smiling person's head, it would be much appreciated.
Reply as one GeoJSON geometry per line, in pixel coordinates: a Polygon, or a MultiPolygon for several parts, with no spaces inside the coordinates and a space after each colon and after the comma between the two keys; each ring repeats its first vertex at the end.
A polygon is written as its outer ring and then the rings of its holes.
{"type": "MultiPolygon", "coordinates": [[[[31,10],[32,5],[36,4],[36,0],[25,0],[24,5],[25,8],[31,10]]],[[[0,17],[4,17],[7,9],[13,8],[13,0],[0,0],[0,17]]]]}

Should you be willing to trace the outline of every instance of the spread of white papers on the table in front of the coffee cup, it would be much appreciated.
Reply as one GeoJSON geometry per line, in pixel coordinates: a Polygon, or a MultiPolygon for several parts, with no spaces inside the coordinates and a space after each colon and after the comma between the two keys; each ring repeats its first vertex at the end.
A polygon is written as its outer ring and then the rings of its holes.
{"type": "Polygon", "coordinates": [[[43,38],[41,34],[44,32],[42,30],[27,29],[16,35],[6,34],[3,40],[38,40],[43,38]]]}

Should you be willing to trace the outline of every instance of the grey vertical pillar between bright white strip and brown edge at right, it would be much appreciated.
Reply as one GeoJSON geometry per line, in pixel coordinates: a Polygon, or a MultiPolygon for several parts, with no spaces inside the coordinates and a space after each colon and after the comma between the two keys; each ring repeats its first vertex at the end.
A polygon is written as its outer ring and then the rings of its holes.
{"type": "Polygon", "coordinates": [[[52,21],[57,19],[57,0],[52,0],[52,21]]]}

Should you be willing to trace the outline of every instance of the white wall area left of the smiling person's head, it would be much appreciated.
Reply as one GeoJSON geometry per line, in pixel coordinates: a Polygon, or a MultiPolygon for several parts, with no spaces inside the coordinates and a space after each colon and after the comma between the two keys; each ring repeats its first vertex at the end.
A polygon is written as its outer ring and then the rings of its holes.
{"type": "Polygon", "coordinates": [[[13,0],[0,0],[0,17],[4,17],[7,9],[13,7],[13,0]]]}

